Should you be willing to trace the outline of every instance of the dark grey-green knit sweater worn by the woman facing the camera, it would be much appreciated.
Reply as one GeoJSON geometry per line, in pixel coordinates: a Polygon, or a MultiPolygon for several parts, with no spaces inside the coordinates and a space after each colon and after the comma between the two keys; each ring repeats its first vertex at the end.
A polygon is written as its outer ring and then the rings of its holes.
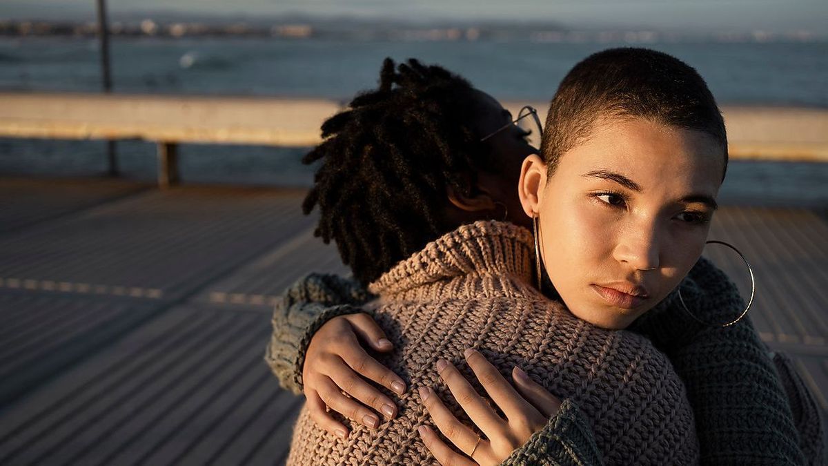
{"type": "MultiPolygon", "coordinates": [[[[729,279],[704,259],[681,289],[688,305],[711,320],[720,319],[716,313],[729,315],[744,306],[729,279]]],[[[288,289],[273,314],[266,355],[282,386],[301,392],[304,351],[315,330],[336,315],[363,312],[358,306],[372,298],[353,280],[326,274],[311,274],[288,289]]],[[[674,298],[631,330],[667,352],[684,379],[696,414],[701,462],[822,464],[816,404],[790,361],[777,354],[772,362],[748,319],[729,328],[705,328],[678,309],[674,298]]],[[[567,401],[511,460],[598,464],[588,427],[578,407],[567,401]]]]}

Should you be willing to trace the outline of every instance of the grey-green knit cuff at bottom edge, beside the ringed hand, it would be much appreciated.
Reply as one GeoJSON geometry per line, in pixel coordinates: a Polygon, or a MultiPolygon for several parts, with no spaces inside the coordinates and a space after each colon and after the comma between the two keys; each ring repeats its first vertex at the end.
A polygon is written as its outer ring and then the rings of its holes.
{"type": "Polygon", "coordinates": [[[564,400],[546,426],[501,465],[517,464],[590,466],[602,461],[589,422],[575,403],[564,400]]]}

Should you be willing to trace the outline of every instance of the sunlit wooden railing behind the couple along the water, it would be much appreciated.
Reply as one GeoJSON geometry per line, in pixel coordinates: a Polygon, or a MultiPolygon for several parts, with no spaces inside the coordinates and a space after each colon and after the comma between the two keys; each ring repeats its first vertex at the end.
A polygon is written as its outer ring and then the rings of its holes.
{"type": "MultiPolygon", "coordinates": [[[[532,104],[507,102],[517,114],[532,104]]],[[[273,97],[0,93],[0,138],[142,139],[158,145],[158,183],[176,184],[177,144],[312,146],[342,104],[273,97]]],[[[731,159],[828,162],[828,110],[724,107],[731,159]]]]}

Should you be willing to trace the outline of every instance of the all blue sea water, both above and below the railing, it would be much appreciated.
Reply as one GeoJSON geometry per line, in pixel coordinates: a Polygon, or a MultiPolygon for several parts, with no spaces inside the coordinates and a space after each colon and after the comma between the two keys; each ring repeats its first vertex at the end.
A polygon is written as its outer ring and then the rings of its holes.
{"type": "MultiPolygon", "coordinates": [[[[577,61],[612,43],[532,41],[330,41],[115,37],[116,92],[281,95],[347,100],[376,84],[383,58],[417,57],[465,75],[500,99],[546,100],[577,61]]],[[[828,108],[828,42],[655,43],[695,66],[720,104],[828,108]]],[[[0,90],[96,91],[97,42],[0,39],[0,90]]],[[[118,143],[127,177],[152,179],[155,148],[118,143]]],[[[185,181],[306,186],[306,148],[186,145],[185,181]]],[[[94,175],[103,143],[0,139],[0,174],[94,175]]],[[[828,163],[731,163],[721,196],[828,205],[828,163]],[[769,187],[768,187],[769,186],[769,187]]]]}

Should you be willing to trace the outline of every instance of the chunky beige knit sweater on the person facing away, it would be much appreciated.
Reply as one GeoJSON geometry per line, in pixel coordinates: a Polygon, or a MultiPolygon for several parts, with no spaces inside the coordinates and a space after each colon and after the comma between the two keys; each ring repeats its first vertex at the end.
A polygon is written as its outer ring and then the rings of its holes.
{"type": "Polygon", "coordinates": [[[565,399],[558,424],[590,429],[604,464],[697,463],[691,406],[667,357],[640,335],[595,328],[537,294],[529,284],[532,254],[526,230],[479,221],[431,242],[371,284],[379,299],[370,306],[395,348],[378,360],[409,386],[399,415],[378,430],[343,419],[352,432],[340,440],[303,408],[288,464],[433,463],[416,433],[431,424],[416,389],[431,386],[468,420],[435,368],[445,358],[472,379],[462,357],[467,347],[478,348],[504,376],[521,366],[565,399]]]}

